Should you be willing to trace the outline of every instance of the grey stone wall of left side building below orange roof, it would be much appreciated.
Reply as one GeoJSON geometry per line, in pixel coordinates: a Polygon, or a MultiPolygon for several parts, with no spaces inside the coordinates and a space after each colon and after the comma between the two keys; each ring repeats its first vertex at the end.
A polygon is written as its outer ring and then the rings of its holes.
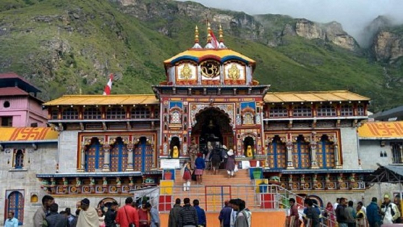
{"type": "Polygon", "coordinates": [[[31,144],[8,145],[5,151],[0,152],[0,226],[4,223],[4,205],[6,205],[6,191],[23,190],[24,196],[24,226],[32,226],[31,221],[36,209],[41,207],[41,199],[45,192],[41,189],[41,181],[36,174],[55,173],[57,144],[38,144],[34,151],[31,144]],[[7,149],[25,149],[24,167],[22,170],[13,170],[13,151],[7,149]],[[7,164],[7,160],[10,163],[7,164]],[[29,163],[28,163],[29,160],[29,163]],[[31,195],[38,196],[38,202],[31,202],[31,195]]]}

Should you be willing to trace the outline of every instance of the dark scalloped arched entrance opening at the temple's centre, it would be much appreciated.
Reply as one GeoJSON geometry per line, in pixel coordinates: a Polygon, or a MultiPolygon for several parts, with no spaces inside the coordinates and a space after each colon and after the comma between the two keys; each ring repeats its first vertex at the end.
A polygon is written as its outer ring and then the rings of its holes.
{"type": "Polygon", "coordinates": [[[234,133],[230,124],[231,119],[224,111],[208,107],[196,114],[195,119],[197,123],[192,128],[192,137],[199,139],[201,151],[206,149],[208,142],[233,147],[234,133]]]}

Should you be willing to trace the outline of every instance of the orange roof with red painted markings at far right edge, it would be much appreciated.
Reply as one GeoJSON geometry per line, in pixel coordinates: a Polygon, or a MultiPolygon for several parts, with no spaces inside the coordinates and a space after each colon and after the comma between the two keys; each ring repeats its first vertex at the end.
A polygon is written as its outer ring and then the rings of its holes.
{"type": "Polygon", "coordinates": [[[358,128],[360,139],[403,139],[403,121],[367,122],[358,128]]]}

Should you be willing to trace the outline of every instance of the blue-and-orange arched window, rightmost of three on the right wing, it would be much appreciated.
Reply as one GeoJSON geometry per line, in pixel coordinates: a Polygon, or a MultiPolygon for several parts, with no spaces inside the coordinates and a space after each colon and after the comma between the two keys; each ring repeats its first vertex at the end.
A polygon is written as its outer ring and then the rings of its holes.
{"type": "Polygon", "coordinates": [[[323,169],[334,168],[334,148],[327,135],[323,135],[316,149],[318,166],[323,169]]]}

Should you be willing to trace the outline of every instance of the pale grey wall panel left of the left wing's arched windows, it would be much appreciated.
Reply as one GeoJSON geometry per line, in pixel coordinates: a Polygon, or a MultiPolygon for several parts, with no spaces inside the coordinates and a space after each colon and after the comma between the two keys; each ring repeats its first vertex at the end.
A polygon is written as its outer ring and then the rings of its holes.
{"type": "Polygon", "coordinates": [[[59,134],[59,172],[77,172],[78,131],[59,134]]]}

